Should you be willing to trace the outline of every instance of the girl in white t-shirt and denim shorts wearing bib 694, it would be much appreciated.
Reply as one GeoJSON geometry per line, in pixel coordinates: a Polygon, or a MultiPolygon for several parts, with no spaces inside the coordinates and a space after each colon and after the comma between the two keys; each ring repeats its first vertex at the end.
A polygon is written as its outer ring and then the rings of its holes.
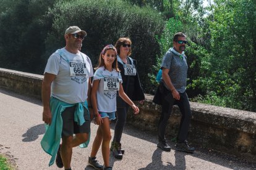
{"type": "Polygon", "coordinates": [[[96,153],[100,148],[104,160],[104,169],[112,169],[109,166],[109,142],[111,132],[109,123],[116,119],[116,93],[127,102],[135,113],[139,113],[139,108],[127,97],[122,88],[122,78],[117,68],[117,51],[113,45],[104,47],[99,57],[98,67],[95,68],[92,86],[92,106],[95,114],[95,123],[99,125],[92,152],[88,159],[88,165],[95,169],[102,169],[103,166],[96,160],[96,153]]]}

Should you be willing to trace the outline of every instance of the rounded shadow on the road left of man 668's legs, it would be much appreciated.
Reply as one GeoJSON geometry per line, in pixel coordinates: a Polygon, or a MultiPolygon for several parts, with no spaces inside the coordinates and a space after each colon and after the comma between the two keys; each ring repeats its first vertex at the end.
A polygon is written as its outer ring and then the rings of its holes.
{"type": "Polygon", "coordinates": [[[32,142],[41,134],[45,134],[45,124],[38,124],[36,126],[30,127],[25,134],[22,135],[24,139],[22,139],[22,142],[32,142]]]}

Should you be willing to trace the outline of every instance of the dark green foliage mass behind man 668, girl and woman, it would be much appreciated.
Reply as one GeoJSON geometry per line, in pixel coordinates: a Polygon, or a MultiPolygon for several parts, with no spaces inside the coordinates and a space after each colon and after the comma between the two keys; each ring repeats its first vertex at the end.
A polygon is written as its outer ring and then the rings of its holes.
{"type": "MultiPolygon", "coordinates": [[[[77,25],[88,33],[82,51],[93,65],[106,44],[127,36],[132,40],[132,57],[138,60],[139,73],[152,70],[160,50],[155,36],[161,34],[164,26],[163,18],[155,10],[134,7],[121,0],[77,0],[56,1],[51,9],[41,8],[41,14],[35,15],[41,2],[44,1],[16,1],[11,10],[2,12],[0,67],[43,73],[49,55],[64,47],[66,28],[77,25]]],[[[140,79],[148,91],[147,74],[141,74],[140,79]]]]}

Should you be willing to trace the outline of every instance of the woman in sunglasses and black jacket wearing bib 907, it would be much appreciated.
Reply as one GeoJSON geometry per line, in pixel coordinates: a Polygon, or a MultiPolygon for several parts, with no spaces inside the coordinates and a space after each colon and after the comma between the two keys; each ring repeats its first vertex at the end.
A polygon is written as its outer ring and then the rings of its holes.
{"type": "MultiPolygon", "coordinates": [[[[131,100],[140,101],[143,103],[145,96],[140,85],[139,75],[136,68],[136,60],[130,58],[132,41],[129,38],[119,38],[116,42],[117,50],[117,63],[118,68],[121,71],[122,76],[122,87],[124,92],[128,95],[131,100]]],[[[118,95],[116,97],[116,126],[114,128],[114,139],[111,142],[111,150],[113,150],[115,158],[122,159],[124,150],[121,149],[121,137],[126,123],[127,111],[129,105],[118,95]]]]}

